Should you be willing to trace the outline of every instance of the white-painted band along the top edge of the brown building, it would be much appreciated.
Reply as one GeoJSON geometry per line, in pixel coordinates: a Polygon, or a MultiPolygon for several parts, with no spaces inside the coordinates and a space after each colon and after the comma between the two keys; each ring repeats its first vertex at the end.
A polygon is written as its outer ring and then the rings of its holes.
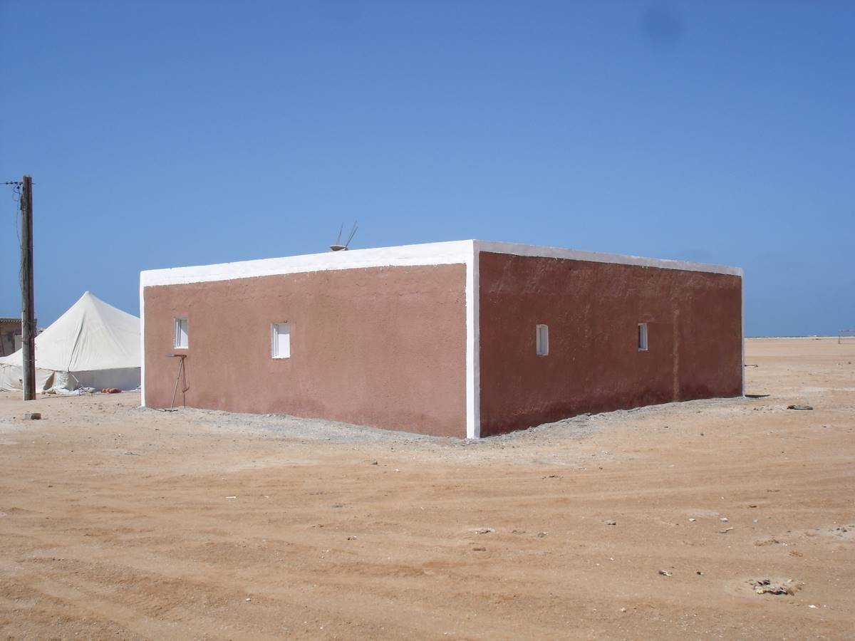
{"type": "Polygon", "coordinates": [[[321,254],[264,258],[255,261],[221,262],[215,265],[194,267],[149,269],[139,274],[139,285],[140,287],[179,285],[338,269],[470,264],[475,260],[475,255],[481,251],[514,256],[540,256],[571,261],[608,262],[647,268],[678,269],[689,272],[725,273],[740,277],[743,275],[741,268],[708,265],[700,262],[669,261],[642,256],[622,256],[620,254],[604,254],[529,244],[454,240],[445,243],[408,244],[367,250],[325,251],[321,254]]]}

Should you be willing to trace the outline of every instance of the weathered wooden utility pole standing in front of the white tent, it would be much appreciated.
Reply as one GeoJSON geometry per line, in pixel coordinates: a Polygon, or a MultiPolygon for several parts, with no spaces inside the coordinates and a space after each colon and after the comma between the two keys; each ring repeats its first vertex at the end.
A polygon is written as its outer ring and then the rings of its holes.
{"type": "Polygon", "coordinates": [[[24,400],[36,400],[36,321],[32,293],[32,177],[21,182],[21,338],[24,400]]]}

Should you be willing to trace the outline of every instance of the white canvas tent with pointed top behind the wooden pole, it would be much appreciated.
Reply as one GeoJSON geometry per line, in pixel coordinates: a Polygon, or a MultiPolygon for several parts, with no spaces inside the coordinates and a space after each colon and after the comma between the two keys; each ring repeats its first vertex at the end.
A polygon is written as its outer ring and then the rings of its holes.
{"type": "MultiPolygon", "coordinates": [[[[139,387],[139,318],[86,291],[36,337],[36,390],[139,387]]],[[[0,390],[21,390],[21,350],[0,358],[0,390]]]]}

